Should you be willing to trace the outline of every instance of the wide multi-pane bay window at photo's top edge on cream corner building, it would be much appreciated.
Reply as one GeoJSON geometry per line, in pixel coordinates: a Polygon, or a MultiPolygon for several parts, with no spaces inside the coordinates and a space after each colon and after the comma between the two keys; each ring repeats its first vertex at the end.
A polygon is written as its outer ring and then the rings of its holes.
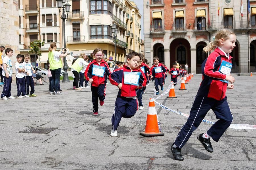
{"type": "Polygon", "coordinates": [[[90,1],[90,14],[112,14],[112,4],[106,0],[90,1]]]}

